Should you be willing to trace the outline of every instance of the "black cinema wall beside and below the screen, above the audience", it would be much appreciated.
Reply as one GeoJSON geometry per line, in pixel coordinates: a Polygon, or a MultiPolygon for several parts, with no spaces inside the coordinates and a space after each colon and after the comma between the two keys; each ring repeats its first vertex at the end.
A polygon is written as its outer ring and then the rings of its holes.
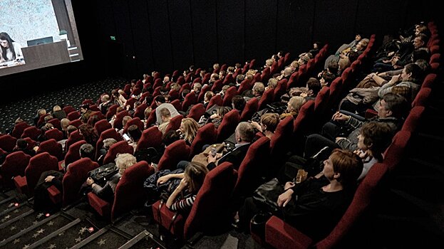
{"type": "Polygon", "coordinates": [[[63,88],[105,76],[142,78],[153,70],[172,73],[253,58],[262,65],[280,50],[293,56],[308,51],[314,41],[334,50],[356,32],[382,38],[418,21],[443,23],[431,0],[71,1],[85,60],[4,76],[4,90],[19,85],[32,95],[44,86],[63,88]]]}

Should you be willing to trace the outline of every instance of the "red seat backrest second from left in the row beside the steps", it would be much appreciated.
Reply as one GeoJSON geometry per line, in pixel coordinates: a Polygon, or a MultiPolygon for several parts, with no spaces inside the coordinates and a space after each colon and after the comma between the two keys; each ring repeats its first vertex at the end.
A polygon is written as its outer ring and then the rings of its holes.
{"type": "Polygon", "coordinates": [[[31,195],[34,192],[34,188],[36,187],[40,175],[48,170],[58,170],[57,158],[51,156],[48,152],[36,154],[29,160],[29,164],[25,169],[25,176],[28,190],[31,195]]]}

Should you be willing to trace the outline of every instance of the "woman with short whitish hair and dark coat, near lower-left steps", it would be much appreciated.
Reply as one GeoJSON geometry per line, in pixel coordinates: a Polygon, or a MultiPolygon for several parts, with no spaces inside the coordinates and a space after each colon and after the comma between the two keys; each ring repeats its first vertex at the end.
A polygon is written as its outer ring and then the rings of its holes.
{"type": "Polygon", "coordinates": [[[130,166],[133,166],[135,163],[136,159],[132,154],[118,154],[118,156],[115,158],[115,166],[118,167],[119,171],[118,173],[111,176],[108,181],[106,181],[105,186],[95,184],[94,180],[91,179],[91,177],[88,177],[88,179],[86,179],[86,184],[88,186],[91,186],[91,188],[93,189],[93,193],[96,194],[98,197],[102,198],[105,201],[112,202],[114,199],[115,187],[120,181],[123,172],[125,172],[126,169],[128,169],[130,166]]]}

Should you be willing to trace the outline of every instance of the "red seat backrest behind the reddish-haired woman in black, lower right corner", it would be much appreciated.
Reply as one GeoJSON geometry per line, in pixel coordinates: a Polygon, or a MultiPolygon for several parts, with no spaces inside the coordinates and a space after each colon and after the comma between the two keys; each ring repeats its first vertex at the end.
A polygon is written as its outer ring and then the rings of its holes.
{"type": "Polygon", "coordinates": [[[381,181],[383,181],[387,173],[388,168],[385,164],[373,164],[366,177],[359,184],[358,189],[356,189],[353,201],[351,201],[349,208],[347,208],[339,223],[326,238],[316,243],[315,248],[335,248],[335,245],[339,244],[341,239],[349,233],[356,221],[367,210],[373,196],[378,191],[378,186],[381,185],[381,181]]]}

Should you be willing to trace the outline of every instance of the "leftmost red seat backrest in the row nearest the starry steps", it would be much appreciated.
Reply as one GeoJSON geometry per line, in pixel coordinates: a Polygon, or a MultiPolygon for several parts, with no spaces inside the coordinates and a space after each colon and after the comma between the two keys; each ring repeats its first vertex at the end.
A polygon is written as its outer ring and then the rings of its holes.
{"type": "Polygon", "coordinates": [[[31,156],[24,152],[12,152],[6,156],[3,164],[1,164],[1,178],[4,186],[14,186],[11,178],[25,175],[29,159],[31,159],[31,156]]]}

